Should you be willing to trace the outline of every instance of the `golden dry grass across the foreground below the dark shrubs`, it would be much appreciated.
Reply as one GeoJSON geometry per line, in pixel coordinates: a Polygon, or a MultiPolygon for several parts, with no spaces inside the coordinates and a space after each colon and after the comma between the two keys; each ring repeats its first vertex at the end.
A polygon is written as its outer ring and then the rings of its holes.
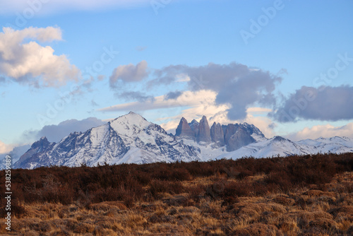
{"type": "MultiPolygon", "coordinates": [[[[223,176],[182,184],[195,187],[219,178],[223,176]]],[[[209,196],[194,201],[188,194],[163,194],[158,201],[140,201],[131,208],[121,201],[22,203],[25,214],[13,217],[11,235],[353,235],[352,183],[353,172],[345,172],[326,184],[326,191],[311,185],[239,197],[234,203],[209,196]]],[[[1,224],[0,234],[7,233],[1,224]]]]}

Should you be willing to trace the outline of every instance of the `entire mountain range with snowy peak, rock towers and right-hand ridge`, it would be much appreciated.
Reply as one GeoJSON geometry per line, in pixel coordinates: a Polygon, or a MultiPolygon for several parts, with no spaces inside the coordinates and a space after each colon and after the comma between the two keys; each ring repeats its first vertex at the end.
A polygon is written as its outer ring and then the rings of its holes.
{"type": "Polygon", "coordinates": [[[73,132],[58,143],[50,143],[42,137],[20,158],[16,156],[13,168],[172,163],[347,152],[353,152],[351,138],[335,136],[302,141],[290,141],[280,136],[265,138],[253,124],[221,125],[214,122],[210,127],[205,116],[200,122],[193,119],[190,123],[183,117],[176,134],[167,134],[161,126],[130,112],[88,131],[73,132]]]}

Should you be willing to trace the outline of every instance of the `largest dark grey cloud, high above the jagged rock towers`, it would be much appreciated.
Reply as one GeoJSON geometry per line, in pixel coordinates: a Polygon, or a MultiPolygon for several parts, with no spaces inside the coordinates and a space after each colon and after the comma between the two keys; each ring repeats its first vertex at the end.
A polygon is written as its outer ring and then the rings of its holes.
{"type": "Polygon", "coordinates": [[[274,106],[273,95],[276,84],[282,81],[268,71],[250,69],[243,64],[213,64],[206,66],[172,65],[156,70],[154,80],[149,85],[169,84],[177,81],[180,74],[188,75],[189,88],[213,90],[217,92],[216,102],[229,104],[229,119],[244,119],[246,108],[258,102],[261,105],[274,106]]]}

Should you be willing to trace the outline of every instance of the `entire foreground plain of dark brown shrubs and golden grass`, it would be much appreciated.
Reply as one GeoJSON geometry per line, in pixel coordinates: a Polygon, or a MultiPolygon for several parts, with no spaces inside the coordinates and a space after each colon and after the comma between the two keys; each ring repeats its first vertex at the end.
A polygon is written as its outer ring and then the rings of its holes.
{"type": "Polygon", "coordinates": [[[352,170],[353,153],[12,170],[11,233],[352,235],[352,170]]]}

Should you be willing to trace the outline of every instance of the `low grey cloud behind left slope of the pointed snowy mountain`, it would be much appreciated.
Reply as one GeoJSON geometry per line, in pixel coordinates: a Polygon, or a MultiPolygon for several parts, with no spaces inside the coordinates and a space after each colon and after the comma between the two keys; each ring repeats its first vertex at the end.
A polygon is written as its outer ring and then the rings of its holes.
{"type": "Polygon", "coordinates": [[[68,134],[74,131],[83,132],[87,131],[92,127],[100,126],[102,124],[105,124],[105,122],[94,117],[82,120],[68,119],[57,125],[46,125],[39,131],[25,131],[24,136],[25,138],[31,140],[38,140],[40,137],[46,136],[48,138],[48,141],[58,142],[61,140],[61,138],[68,136],[68,134]]]}

